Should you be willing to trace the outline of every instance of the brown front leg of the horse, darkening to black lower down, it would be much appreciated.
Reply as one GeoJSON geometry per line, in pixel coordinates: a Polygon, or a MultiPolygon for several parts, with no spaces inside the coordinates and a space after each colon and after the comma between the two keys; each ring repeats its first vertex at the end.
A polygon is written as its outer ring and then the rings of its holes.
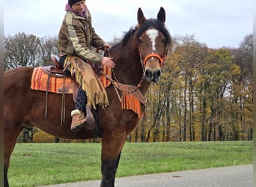
{"type": "Polygon", "coordinates": [[[103,179],[101,181],[101,187],[115,186],[115,174],[118,169],[118,163],[125,138],[126,135],[124,132],[113,132],[112,135],[103,137],[101,155],[101,173],[103,179]]]}

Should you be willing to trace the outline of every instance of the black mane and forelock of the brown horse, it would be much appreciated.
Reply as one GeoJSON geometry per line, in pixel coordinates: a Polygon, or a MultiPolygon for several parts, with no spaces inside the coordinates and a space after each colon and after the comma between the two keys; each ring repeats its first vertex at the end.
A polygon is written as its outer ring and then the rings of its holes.
{"type": "Polygon", "coordinates": [[[137,31],[138,29],[138,33],[137,33],[137,38],[141,36],[141,34],[149,27],[149,26],[154,26],[155,28],[157,28],[159,31],[162,32],[162,34],[165,36],[166,38],[166,44],[170,45],[171,44],[171,35],[169,34],[168,30],[165,28],[165,24],[162,23],[161,21],[159,21],[158,19],[146,19],[146,21],[141,25],[141,27],[137,28],[130,28],[129,31],[127,31],[124,34],[124,37],[121,39],[120,43],[117,43],[115,46],[113,46],[114,48],[118,45],[122,45],[125,46],[127,41],[129,40],[130,37],[133,36],[133,34],[135,34],[135,31],[137,31]]]}

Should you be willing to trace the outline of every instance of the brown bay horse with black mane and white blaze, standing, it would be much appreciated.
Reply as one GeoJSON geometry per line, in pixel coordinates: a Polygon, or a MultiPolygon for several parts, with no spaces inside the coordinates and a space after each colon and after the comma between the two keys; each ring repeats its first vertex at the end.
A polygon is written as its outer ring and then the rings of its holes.
{"type": "MultiPolygon", "coordinates": [[[[142,97],[147,92],[150,82],[157,82],[161,76],[162,65],[171,36],[165,28],[165,10],[160,7],[157,19],[146,19],[141,8],[137,12],[138,24],[124,35],[124,38],[109,50],[115,61],[112,77],[115,83],[132,86],[142,97]]],[[[10,155],[16,139],[25,126],[37,128],[59,138],[88,139],[94,138],[91,130],[70,131],[70,112],[74,108],[73,97],[66,96],[66,120],[60,125],[61,96],[48,95],[48,114],[44,118],[46,94],[30,88],[34,67],[16,67],[4,72],[4,187],[9,186],[7,171],[10,155]],[[25,126],[24,126],[25,125],[25,126]]],[[[112,80],[112,82],[114,82],[112,80]]],[[[97,108],[98,128],[102,138],[100,186],[115,186],[115,174],[121,150],[127,135],[134,130],[141,117],[132,110],[123,109],[115,84],[106,88],[109,105],[103,110],[97,108]]],[[[144,110],[144,108],[142,108],[144,110]]]]}

